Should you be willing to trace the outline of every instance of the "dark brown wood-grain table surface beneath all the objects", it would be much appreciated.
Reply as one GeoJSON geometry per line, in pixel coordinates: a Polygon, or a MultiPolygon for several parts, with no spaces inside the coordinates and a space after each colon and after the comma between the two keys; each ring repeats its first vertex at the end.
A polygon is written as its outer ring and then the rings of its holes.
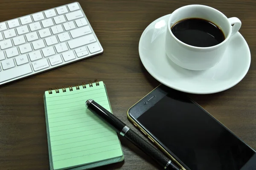
{"type": "MultiPolygon", "coordinates": [[[[0,22],[72,2],[1,0],[0,22]]],[[[250,47],[251,65],[246,77],[235,87],[218,94],[190,96],[256,149],[256,1],[193,2],[241,20],[240,33],[250,47]]],[[[128,121],[127,110],[160,84],[140,61],[140,35],[158,17],[192,1],[80,0],[79,3],[102,43],[104,54],[0,86],[0,170],[49,169],[43,94],[56,86],[67,87],[95,78],[104,81],[113,113],[140,133],[128,121]]],[[[160,168],[127,140],[121,138],[121,142],[125,160],[96,170],[160,168]]]]}

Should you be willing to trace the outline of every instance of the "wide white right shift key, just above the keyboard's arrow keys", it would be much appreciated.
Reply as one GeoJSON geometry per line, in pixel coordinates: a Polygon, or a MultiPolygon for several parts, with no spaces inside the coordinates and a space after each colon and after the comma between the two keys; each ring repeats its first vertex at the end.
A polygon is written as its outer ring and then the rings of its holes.
{"type": "Polygon", "coordinates": [[[70,46],[70,49],[73,49],[73,48],[77,48],[77,47],[81,47],[81,46],[90,44],[92,42],[96,42],[96,38],[94,37],[93,34],[90,34],[90,35],[86,35],[84,37],[79,37],[75,40],[71,40],[67,43],[70,46]]]}

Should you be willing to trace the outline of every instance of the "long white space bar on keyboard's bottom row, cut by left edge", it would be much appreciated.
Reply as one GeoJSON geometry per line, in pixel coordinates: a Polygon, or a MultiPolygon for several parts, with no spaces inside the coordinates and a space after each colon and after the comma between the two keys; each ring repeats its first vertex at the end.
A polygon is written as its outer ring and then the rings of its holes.
{"type": "Polygon", "coordinates": [[[0,82],[14,79],[29,73],[32,73],[32,69],[29,64],[11,68],[6,71],[0,71],[0,82]]]}

